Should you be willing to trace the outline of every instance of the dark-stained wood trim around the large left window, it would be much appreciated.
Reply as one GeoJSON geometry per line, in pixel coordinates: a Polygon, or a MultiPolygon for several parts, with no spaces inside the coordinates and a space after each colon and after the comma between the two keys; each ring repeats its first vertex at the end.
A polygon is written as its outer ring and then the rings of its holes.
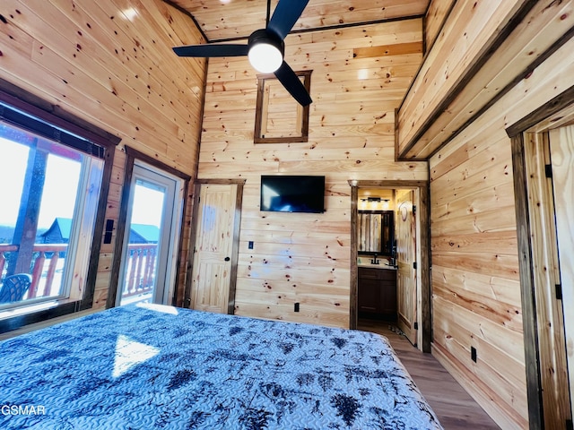
{"type": "MultiPolygon", "coordinates": [[[[18,316],[5,318],[0,321],[0,333],[4,333],[6,331],[19,329],[32,323],[39,323],[65,314],[73,314],[90,309],[93,305],[96,277],[98,274],[98,261],[100,259],[100,238],[103,234],[104,228],[104,219],[109,194],[109,182],[113,168],[114,154],[116,146],[120,142],[120,138],[95,125],[91,125],[78,116],[65,112],[61,107],[51,105],[45,100],[39,99],[30,92],[22,90],[3,79],[0,79],[0,102],[14,107],[26,115],[35,116],[39,120],[46,122],[49,125],[53,125],[58,129],[65,130],[72,135],[91,141],[103,149],[100,158],[104,160],[100,198],[93,231],[94,240],[92,240],[91,243],[90,262],[88,265],[83,298],[67,301],[65,303],[58,303],[48,309],[31,312],[30,314],[20,314],[18,316]]],[[[26,128],[22,125],[19,126],[26,128]]]]}

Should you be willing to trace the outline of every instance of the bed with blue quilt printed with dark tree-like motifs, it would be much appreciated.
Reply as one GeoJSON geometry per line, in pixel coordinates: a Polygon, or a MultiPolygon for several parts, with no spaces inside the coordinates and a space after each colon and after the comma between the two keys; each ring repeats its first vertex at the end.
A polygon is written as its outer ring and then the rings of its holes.
{"type": "Polygon", "coordinates": [[[0,343],[3,429],[440,429],[374,333],[126,305],[0,343]]]}

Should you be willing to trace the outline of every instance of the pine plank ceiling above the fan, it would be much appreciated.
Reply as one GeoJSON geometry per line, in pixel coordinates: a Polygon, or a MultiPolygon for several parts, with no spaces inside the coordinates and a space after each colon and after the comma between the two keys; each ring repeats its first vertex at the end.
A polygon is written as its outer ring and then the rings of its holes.
{"type": "MultiPolygon", "coordinates": [[[[208,42],[246,39],[265,28],[266,0],[165,0],[190,13],[208,42]]],[[[283,0],[291,1],[291,0],[283,0]]],[[[309,0],[293,32],[422,16],[431,0],[309,0]]],[[[273,14],[277,0],[271,1],[273,14]]]]}

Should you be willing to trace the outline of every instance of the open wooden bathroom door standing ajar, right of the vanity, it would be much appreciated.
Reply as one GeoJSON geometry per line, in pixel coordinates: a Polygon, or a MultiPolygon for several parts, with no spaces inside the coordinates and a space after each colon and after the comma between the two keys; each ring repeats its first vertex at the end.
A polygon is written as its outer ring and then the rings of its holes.
{"type": "Polygon", "coordinates": [[[396,190],[396,295],[398,328],[416,345],[416,223],[413,190],[396,190]]]}

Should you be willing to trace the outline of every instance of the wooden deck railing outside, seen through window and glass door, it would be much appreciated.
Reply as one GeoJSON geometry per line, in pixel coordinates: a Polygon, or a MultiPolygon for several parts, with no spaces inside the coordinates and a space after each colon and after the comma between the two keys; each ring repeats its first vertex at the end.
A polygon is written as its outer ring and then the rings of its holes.
{"type": "MultiPolygon", "coordinates": [[[[37,297],[56,297],[62,287],[67,244],[35,244],[30,262],[31,286],[22,300],[37,297]]],[[[4,280],[9,253],[16,253],[18,245],[0,245],[0,279],[4,280]]],[[[127,276],[122,297],[149,293],[155,278],[156,244],[130,244],[127,276]]]]}

